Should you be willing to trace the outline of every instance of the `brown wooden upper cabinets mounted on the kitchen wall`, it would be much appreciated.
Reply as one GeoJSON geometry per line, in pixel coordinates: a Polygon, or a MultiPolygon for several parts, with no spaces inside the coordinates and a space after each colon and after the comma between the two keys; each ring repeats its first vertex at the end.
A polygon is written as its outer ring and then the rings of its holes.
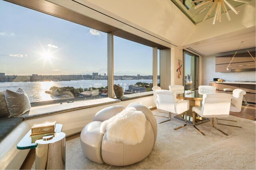
{"type": "MultiPolygon", "coordinates": [[[[255,58],[255,51],[250,52],[252,57],[255,58]]],[[[236,54],[236,56],[233,58],[233,55],[225,55],[220,57],[215,57],[215,72],[240,72],[240,71],[255,71],[256,70],[256,64],[255,61],[252,59],[250,54],[247,53],[240,53],[236,54]],[[232,63],[230,64],[231,67],[227,66],[232,60],[232,63]]]]}

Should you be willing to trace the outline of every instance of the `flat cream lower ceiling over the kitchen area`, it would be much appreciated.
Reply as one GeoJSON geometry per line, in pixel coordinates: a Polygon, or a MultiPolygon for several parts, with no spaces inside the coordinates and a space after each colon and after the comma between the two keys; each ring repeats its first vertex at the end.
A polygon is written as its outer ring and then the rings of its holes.
{"type": "MultiPolygon", "coordinates": [[[[228,33],[225,35],[217,36],[214,38],[206,39],[190,45],[186,45],[186,48],[192,48],[193,50],[201,53],[205,56],[217,55],[218,53],[224,53],[229,51],[236,51],[240,45],[240,41],[244,41],[246,49],[256,47],[256,33],[255,26],[228,33]]],[[[241,45],[240,49],[245,49],[241,45]]]]}

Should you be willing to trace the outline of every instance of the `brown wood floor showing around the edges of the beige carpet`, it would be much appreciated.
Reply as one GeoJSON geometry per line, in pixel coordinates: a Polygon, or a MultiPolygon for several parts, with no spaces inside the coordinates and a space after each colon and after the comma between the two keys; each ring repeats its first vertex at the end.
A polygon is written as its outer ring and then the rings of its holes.
{"type": "MultiPolygon", "coordinates": [[[[236,116],[236,117],[241,117],[244,119],[250,119],[250,120],[256,120],[256,105],[255,104],[250,104],[250,106],[242,106],[242,110],[240,112],[232,112],[230,111],[230,115],[236,116]]],[[[152,108],[151,111],[155,110],[155,108],[152,108]]],[[[75,139],[77,137],[80,137],[80,133],[76,133],[74,135],[66,137],[66,141],[75,139]]],[[[34,161],[35,161],[35,149],[30,149],[30,152],[28,153],[28,156],[24,160],[22,166],[20,167],[21,170],[27,170],[31,169],[34,161]]]]}

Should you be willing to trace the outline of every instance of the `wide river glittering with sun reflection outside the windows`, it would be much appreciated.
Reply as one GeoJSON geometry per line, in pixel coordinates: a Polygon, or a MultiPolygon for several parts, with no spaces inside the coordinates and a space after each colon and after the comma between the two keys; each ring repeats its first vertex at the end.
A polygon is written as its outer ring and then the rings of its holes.
{"type": "MultiPolygon", "coordinates": [[[[136,82],[152,83],[152,80],[114,80],[114,84],[120,84],[124,90],[128,89],[129,85],[136,84],[136,82]]],[[[159,80],[158,80],[159,82],[159,80]]],[[[23,89],[30,102],[38,102],[45,100],[54,100],[54,96],[46,94],[45,91],[49,90],[50,87],[65,87],[73,86],[74,88],[90,88],[90,87],[106,87],[108,86],[107,80],[75,80],[75,81],[59,81],[59,82],[0,82],[1,90],[12,90],[15,91],[18,88],[23,89]]]]}

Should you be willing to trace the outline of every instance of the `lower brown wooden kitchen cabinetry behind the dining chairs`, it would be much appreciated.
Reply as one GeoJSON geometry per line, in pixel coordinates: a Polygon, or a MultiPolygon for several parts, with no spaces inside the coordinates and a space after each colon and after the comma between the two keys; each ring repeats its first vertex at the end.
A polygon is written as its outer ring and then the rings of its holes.
{"type": "Polygon", "coordinates": [[[244,90],[250,90],[250,93],[246,93],[244,97],[246,98],[247,102],[256,103],[256,90],[255,90],[256,84],[232,84],[232,83],[209,82],[209,86],[215,86],[216,88],[219,88],[219,90],[216,90],[216,92],[218,93],[224,93],[223,91],[224,88],[232,88],[232,89],[240,88],[244,90]]]}

